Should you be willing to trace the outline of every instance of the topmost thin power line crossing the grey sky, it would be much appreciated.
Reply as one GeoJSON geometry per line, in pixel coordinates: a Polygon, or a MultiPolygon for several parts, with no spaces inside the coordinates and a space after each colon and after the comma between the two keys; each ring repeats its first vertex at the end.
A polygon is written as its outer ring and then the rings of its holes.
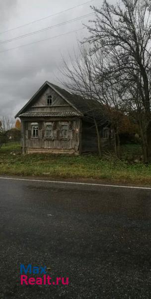
{"type": "Polygon", "coordinates": [[[23,24],[23,25],[20,25],[20,26],[18,26],[18,27],[14,27],[14,28],[11,28],[11,29],[8,29],[8,30],[5,30],[5,31],[2,31],[2,32],[0,32],[0,34],[2,34],[2,33],[6,33],[6,32],[9,32],[9,31],[12,31],[12,30],[16,30],[16,29],[18,29],[18,28],[21,28],[21,27],[24,27],[24,26],[27,26],[27,25],[30,25],[30,24],[33,24],[33,23],[36,23],[36,22],[45,20],[45,19],[50,18],[50,17],[52,17],[52,16],[61,14],[61,13],[63,13],[63,12],[69,11],[69,10],[72,10],[72,9],[74,9],[74,8],[80,7],[80,6],[84,5],[84,4],[87,4],[87,3],[90,3],[90,2],[93,2],[93,1],[94,1],[94,0],[89,0],[89,1],[87,1],[87,2],[83,2],[82,4],[79,4],[79,5],[73,6],[73,7],[71,7],[71,8],[68,8],[68,9],[65,9],[65,10],[62,10],[62,11],[59,11],[59,12],[56,12],[56,13],[54,13],[54,14],[50,14],[50,15],[48,15],[48,16],[42,17],[42,18],[37,19],[37,20],[34,20],[34,21],[32,21],[32,22],[29,22],[29,23],[26,23],[26,24],[23,24]]]}

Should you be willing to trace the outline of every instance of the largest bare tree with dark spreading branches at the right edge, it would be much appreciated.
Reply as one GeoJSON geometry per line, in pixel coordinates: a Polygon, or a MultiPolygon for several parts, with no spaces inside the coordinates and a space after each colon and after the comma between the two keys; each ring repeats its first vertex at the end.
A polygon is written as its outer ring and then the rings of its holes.
{"type": "Polygon", "coordinates": [[[101,9],[92,9],[96,19],[88,26],[91,36],[86,41],[93,52],[106,53],[108,75],[119,78],[127,90],[127,109],[142,117],[139,125],[147,163],[151,156],[151,1],[122,0],[115,6],[104,0],[101,9]]]}

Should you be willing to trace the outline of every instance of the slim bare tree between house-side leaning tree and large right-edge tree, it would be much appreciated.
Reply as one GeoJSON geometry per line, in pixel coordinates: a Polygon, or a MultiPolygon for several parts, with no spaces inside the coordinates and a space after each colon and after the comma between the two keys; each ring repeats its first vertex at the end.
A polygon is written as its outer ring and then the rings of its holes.
{"type": "Polygon", "coordinates": [[[120,84],[119,76],[111,76],[112,64],[103,50],[93,55],[93,83],[96,97],[103,106],[114,133],[115,154],[120,158],[119,129],[126,111],[126,88],[120,84]]]}

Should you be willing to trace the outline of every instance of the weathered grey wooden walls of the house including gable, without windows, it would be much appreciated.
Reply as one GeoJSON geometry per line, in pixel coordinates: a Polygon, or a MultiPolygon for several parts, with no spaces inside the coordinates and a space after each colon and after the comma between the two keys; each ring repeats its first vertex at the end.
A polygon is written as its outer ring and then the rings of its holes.
{"type": "MultiPolygon", "coordinates": [[[[25,112],[29,112],[29,116],[21,118],[21,141],[22,152],[53,152],[53,153],[75,153],[97,152],[97,135],[93,123],[88,119],[81,119],[77,116],[65,117],[48,117],[43,116],[32,117],[30,112],[65,112],[75,111],[72,105],[69,105],[60,95],[52,88],[47,87],[43,94],[26,108],[25,112]],[[52,106],[46,105],[47,94],[52,94],[52,106]],[[61,137],[60,122],[69,125],[68,137],[61,137]],[[32,123],[38,123],[38,138],[32,137],[32,123]],[[45,123],[53,123],[53,138],[46,138],[45,123]]],[[[40,115],[40,114],[39,114],[40,115]]],[[[60,114],[61,115],[61,114],[60,114]]],[[[70,114],[68,114],[70,115],[70,114]]],[[[100,129],[100,134],[103,128],[100,129]]],[[[100,135],[101,136],[101,135],[100,135]]],[[[109,144],[108,140],[103,140],[101,136],[102,146],[109,144]]]]}

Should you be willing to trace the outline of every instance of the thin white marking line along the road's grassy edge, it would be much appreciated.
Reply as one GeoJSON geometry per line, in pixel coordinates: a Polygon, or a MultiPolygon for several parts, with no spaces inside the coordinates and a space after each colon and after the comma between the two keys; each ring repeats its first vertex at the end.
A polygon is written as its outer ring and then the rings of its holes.
{"type": "Polygon", "coordinates": [[[123,185],[109,185],[109,184],[94,184],[94,183],[80,183],[80,182],[67,182],[67,181],[52,181],[44,179],[29,179],[29,178],[14,178],[14,177],[2,177],[0,179],[20,180],[20,181],[31,181],[31,182],[46,182],[46,183],[59,183],[59,184],[74,184],[74,185],[90,185],[100,187],[114,187],[114,188],[131,188],[131,189],[145,189],[151,190],[151,187],[135,187],[135,186],[123,186],[123,185]]]}

